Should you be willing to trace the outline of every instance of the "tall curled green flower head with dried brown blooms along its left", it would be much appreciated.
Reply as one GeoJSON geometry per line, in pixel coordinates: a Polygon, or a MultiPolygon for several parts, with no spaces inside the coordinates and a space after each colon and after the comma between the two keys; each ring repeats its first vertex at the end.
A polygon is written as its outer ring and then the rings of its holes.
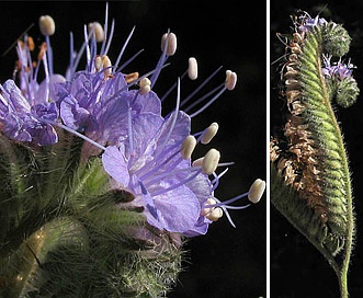
{"type": "Polygon", "coordinates": [[[336,103],[350,106],[359,94],[353,67],[341,57],[351,38],[341,25],[319,16],[295,20],[283,73],[284,141],[271,140],[270,158],[272,170],[292,187],[290,197],[298,200],[282,203],[274,194],[272,200],[308,238],[337,255],[353,225],[348,158],[332,110],[336,103]]]}

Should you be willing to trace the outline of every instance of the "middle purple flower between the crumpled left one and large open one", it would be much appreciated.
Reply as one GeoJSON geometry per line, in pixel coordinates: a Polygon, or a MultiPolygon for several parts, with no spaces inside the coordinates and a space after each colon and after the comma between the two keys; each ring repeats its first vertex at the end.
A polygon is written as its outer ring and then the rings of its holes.
{"type": "Polygon", "coordinates": [[[103,72],[78,71],[55,89],[64,124],[100,144],[114,145],[127,135],[128,110],[133,115],[161,113],[156,93],[128,90],[123,73],[105,78],[103,72]]]}

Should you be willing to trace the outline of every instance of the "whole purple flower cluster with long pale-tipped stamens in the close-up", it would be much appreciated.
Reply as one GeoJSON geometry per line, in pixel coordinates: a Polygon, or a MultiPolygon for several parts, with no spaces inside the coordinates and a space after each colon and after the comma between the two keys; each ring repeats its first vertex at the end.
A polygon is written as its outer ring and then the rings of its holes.
{"type": "MultiPolygon", "coordinates": [[[[49,16],[41,18],[44,19],[52,24],[49,16]]],[[[15,85],[14,80],[0,87],[0,129],[5,136],[30,146],[46,146],[58,141],[56,129],[67,129],[97,146],[102,150],[103,167],[112,177],[112,187],[133,194],[135,198],[128,204],[143,207],[148,224],[159,230],[189,237],[204,234],[223,211],[232,224],[227,209],[246,207],[228,204],[245,196],[253,203],[260,199],[265,184],[257,180],[248,193],[225,203],[219,202],[214,191],[226,170],[217,174],[216,169],[230,163],[219,163],[220,154],[215,149],[211,149],[204,158],[194,162],[191,160],[194,147],[209,142],[218,127],[213,124],[204,131],[192,135],[191,119],[223,92],[235,88],[235,72],[227,70],[225,82],[188,106],[195,93],[217,72],[195,92],[181,99],[181,80],[186,74],[191,79],[197,76],[196,60],[190,59],[189,69],[171,88],[177,88],[175,108],[163,116],[163,99],[160,100],[151,89],[166,61],[175,51],[174,34],[167,33],[162,37],[162,54],[156,68],[139,77],[138,73],[123,73],[123,67],[118,68],[134,30],[113,65],[107,56],[111,39],[104,38],[109,33],[103,32],[100,24],[92,23],[89,31],[84,28],[84,44],[78,54],[72,49],[72,39],[70,42],[71,58],[65,79],[53,73],[49,35],[54,33],[54,27],[43,24],[42,28],[46,45],[42,47],[35,67],[30,58],[33,50],[29,46],[31,37],[25,36],[24,43],[19,43],[21,88],[15,85]],[[83,53],[88,61],[86,70],[77,70],[83,53]],[[45,80],[38,84],[41,62],[45,69],[45,80]],[[202,107],[188,114],[196,104],[202,107]],[[213,179],[209,180],[209,176],[213,179]]]]}

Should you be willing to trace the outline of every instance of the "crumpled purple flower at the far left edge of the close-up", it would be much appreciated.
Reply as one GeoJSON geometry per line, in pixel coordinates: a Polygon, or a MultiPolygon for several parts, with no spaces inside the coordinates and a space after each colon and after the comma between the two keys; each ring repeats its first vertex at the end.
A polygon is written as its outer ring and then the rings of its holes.
{"type": "Polygon", "coordinates": [[[13,80],[5,81],[0,90],[0,123],[9,138],[39,146],[57,142],[54,127],[42,122],[55,122],[58,118],[55,103],[31,105],[13,80]]]}

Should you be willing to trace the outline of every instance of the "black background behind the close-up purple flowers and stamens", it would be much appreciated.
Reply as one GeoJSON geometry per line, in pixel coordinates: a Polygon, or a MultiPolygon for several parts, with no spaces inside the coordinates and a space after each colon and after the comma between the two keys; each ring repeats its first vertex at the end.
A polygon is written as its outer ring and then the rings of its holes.
{"type": "MultiPolygon", "coordinates": [[[[44,38],[37,20],[50,14],[56,22],[52,36],[55,71],[64,73],[68,65],[69,31],[75,34],[75,46],[82,42],[83,24],[104,21],[103,1],[0,2],[0,55],[16,41],[31,24],[35,42],[44,38]]],[[[125,58],[144,48],[144,53],[125,71],[145,73],[152,69],[160,55],[160,37],[170,28],[178,36],[178,49],[172,62],[159,78],[155,91],[163,92],[188,66],[188,58],[198,60],[200,78],[182,83],[188,94],[220,65],[224,69],[209,84],[209,90],[223,82],[225,70],[238,74],[235,91],[226,92],[207,112],[193,118],[192,129],[198,131],[212,122],[220,130],[213,146],[222,151],[223,161],[235,161],[224,176],[216,196],[230,198],[248,191],[257,177],[265,180],[265,3],[249,2],[241,11],[239,2],[217,1],[110,1],[110,16],[116,21],[111,51],[115,61],[129,31],[136,25],[125,58]]],[[[0,58],[0,82],[11,78],[15,49],[0,58]]],[[[184,92],[184,93],[183,93],[184,92]]],[[[174,105],[174,96],[167,103],[174,105]]],[[[209,147],[202,147],[198,157],[209,147]]],[[[224,217],[211,226],[206,236],[193,238],[188,244],[189,260],[180,275],[178,287],[169,297],[265,297],[266,295],[266,220],[265,195],[258,205],[230,215],[237,229],[224,217]]]]}

